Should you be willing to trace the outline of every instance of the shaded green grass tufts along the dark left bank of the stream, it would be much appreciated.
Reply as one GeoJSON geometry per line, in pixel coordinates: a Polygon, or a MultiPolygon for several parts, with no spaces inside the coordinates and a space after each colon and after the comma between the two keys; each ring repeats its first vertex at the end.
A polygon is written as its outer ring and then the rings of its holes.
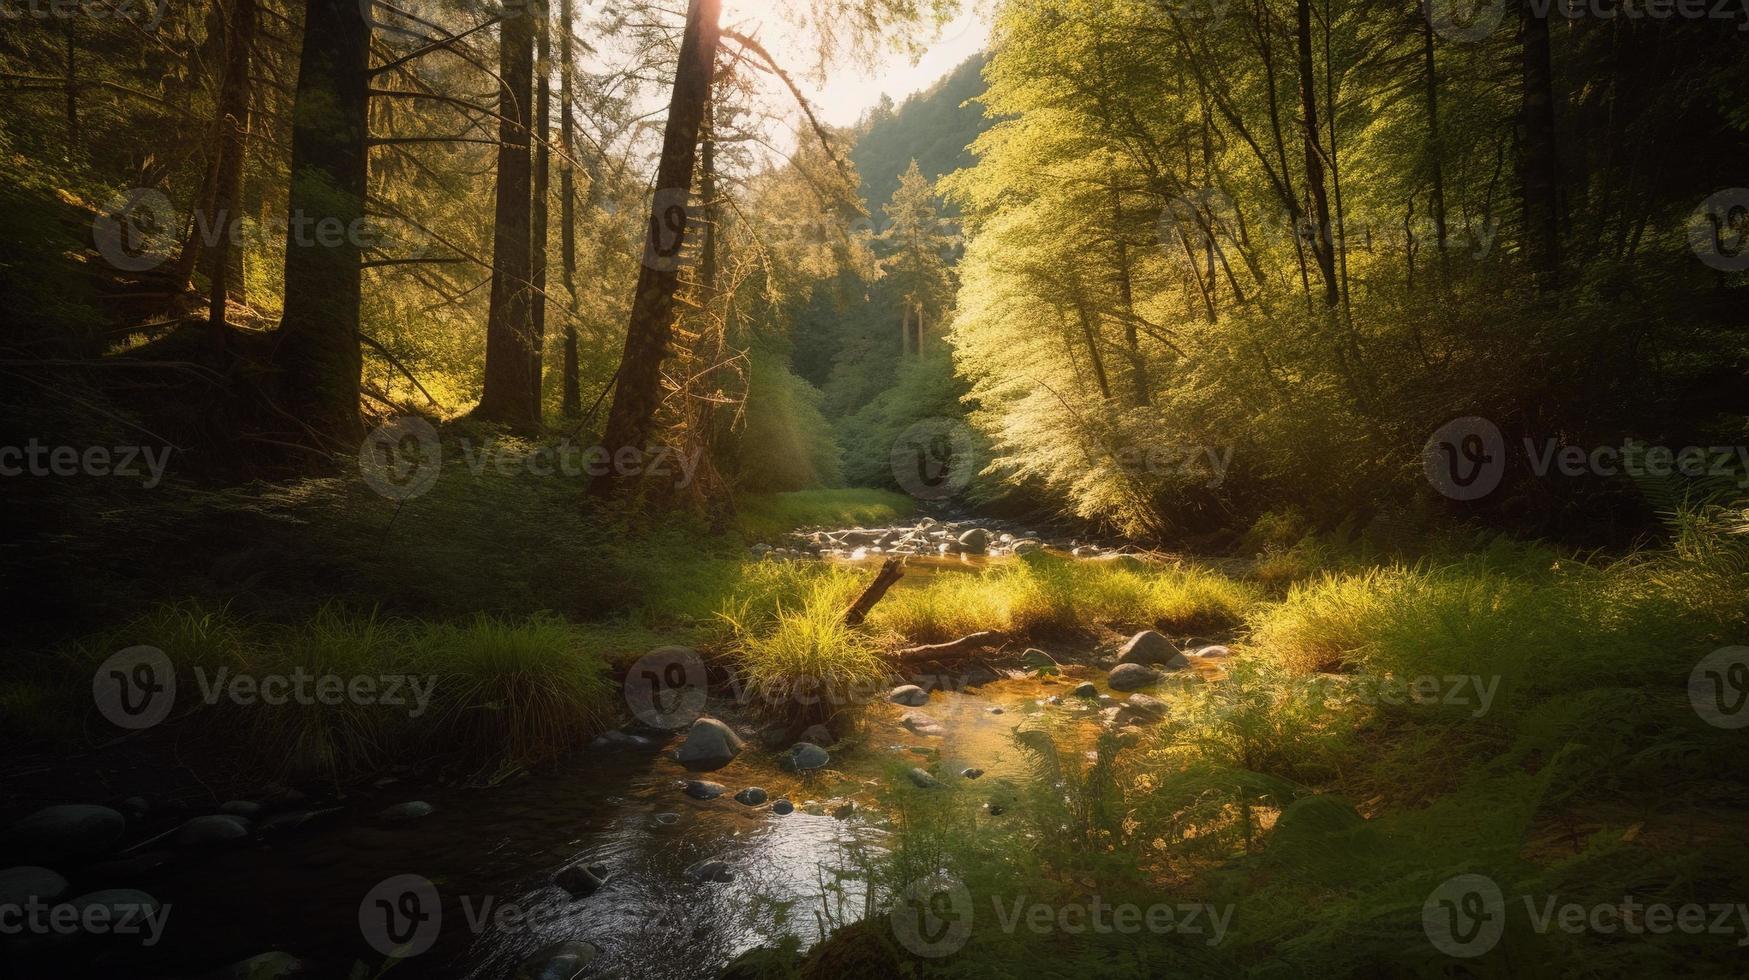
{"type": "Polygon", "coordinates": [[[612,719],[617,698],[607,665],[616,640],[628,639],[621,630],[551,614],[446,623],[345,606],[271,623],[185,602],[70,644],[54,686],[17,677],[5,690],[35,710],[58,704],[66,718],[84,718],[93,710],[94,667],[145,644],[177,668],[177,707],[166,724],[234,746],[241,765],[329,779],[439,758],[528,765],[577,749],[612,719]],[[240,704],[227,693],[240,676],[254,684],[306,676],[306,695],[240,704]],[[70,677],[79,682],[68,686],[70,677]],[[345,688],[324,696],[320,677],[345,688]],[[366,684],[357,696],[353,682],[366,684]]]}

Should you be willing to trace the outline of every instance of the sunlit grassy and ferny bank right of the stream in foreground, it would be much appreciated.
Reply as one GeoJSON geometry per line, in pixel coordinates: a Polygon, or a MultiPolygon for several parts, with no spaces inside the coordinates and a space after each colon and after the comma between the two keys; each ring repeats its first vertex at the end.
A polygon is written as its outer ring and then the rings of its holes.
{"type": "Polygon", "coordinates": [[[850,929],[806,975],[841,956],[920,976],[1450,976],[1464,961],[1429,940],[1424,908],[1438,915],[1459,875],[1506,901],[1499,945],[1467,975],[1733,975],[1737,926],[1571,931],[1536,915],[1735,908],[1749,892],[1742,735],[1690,700],[1697,665],[1749,635],[1746,593],[1732,534],[1614,562],[1499,542],[1305,578],[1245,609],[1228,681],[1174,696],[1165,724],[1084,760],[1049,726],[1021,730],[1048,791],[1023,789],[1006,817],[979,812],[992,786],[897,786],[899,842],[873,884],[897,900],[950,875],[972,933],[916,957],[890,931],[850,929]],[[1093,898],[1203,919],[1137,938],[1002,929],[992,914],[1093,898]],[[1212,915],[1228,917],[1221,936],[1212,915]]]}

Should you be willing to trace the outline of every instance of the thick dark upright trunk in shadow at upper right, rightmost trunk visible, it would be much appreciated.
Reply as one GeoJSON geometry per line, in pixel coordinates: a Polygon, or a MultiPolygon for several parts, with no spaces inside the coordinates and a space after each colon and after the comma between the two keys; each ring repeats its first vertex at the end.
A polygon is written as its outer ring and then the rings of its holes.
{"type": "Polygon", "coordinates": [[[1548,14],[1523,5],[1523,189],[1525,259],[1539,289],[1560,280],[1560,192],[1555,149],[1553,68],[1550,66],[1548,14]]]}

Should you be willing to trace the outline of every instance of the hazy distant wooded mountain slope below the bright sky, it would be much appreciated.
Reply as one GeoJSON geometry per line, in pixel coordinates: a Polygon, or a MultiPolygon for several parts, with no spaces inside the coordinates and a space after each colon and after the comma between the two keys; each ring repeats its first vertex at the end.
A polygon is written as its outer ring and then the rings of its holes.
{"type": "Polygon", "coordinates": [[[862,177],[862,200],[880,222],[881,206],[899,187],[899,175],[916,161],[923,177],[936,180],[972,164],[965,149],[990,124],[981,105],[965,105],[985,91],[985,56],[964,61],[929,89],[894,110],[874,110],[868,133],[850,150],[862,177]]]}

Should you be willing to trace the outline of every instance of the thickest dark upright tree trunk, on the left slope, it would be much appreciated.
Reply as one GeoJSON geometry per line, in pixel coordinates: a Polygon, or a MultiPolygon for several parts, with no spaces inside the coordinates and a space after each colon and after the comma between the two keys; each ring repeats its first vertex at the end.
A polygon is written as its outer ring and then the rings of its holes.
{"type": "MultiPolygon", "coordinates": [[[[371,28],[357,0],[306,0],[292,102],[290,220],[357,228],[367,173],[371,28]]],[[[285,317],[273,364],[280,406],[320,448],[357,448],[360,247],[352,234],[289,234],[285,317]]]]}

